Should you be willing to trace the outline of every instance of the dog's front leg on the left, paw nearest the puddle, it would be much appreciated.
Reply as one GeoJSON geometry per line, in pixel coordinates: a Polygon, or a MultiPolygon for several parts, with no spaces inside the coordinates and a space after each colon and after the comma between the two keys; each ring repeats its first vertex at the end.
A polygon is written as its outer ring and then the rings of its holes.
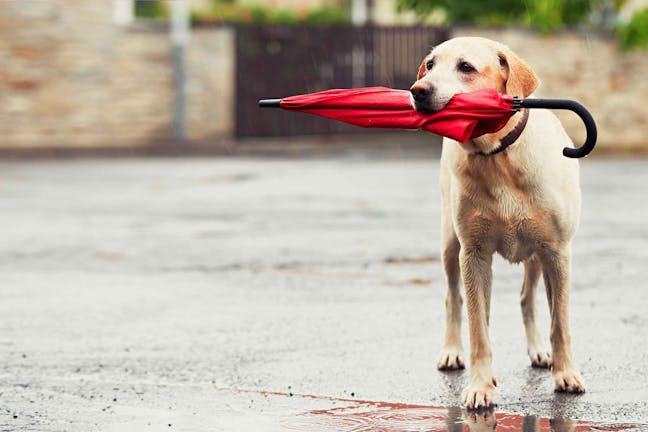
{"type": "Polygon", "coordinates": [[[462,245],[459,261],[466,290],[470,333],[470,379],[462,404],[470,409],[490,406],[497,385],[488,339],[492,259],[492,253],[485,253],[480,246],[462,245]]]}

